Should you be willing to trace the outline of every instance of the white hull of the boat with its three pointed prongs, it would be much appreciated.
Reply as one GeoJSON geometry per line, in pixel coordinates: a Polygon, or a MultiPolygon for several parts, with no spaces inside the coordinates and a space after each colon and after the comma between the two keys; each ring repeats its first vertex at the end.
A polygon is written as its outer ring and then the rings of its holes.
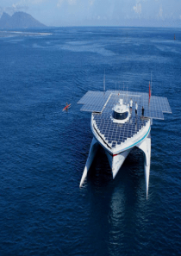
{"type": "Polygon", "coordinates": [[[117,148],[108,147],[108,144],[103,142],[102,138],[95,133],[92,122],[90,127],[92,130],[92,133],[94,134],[94,137],[90,145],[90,153],[86,161],[86,165],[84,167],[83,176],[80,181],[80,187],[84,183],[84,179],[87,177],[87,173],[90,169],[90,165],[93,159],[95,158],[99,145],[103,147],[108,157],[113,178],[115,178],[116,174],[119,172],[120,168],[122,167],[122,164],[124,163],[125,159],[128,157],[128,153],[130,153],[130,151],[134,147],[139,147],[140,150],[143,151],[145,155],[144,170],[145,170],[145,179],[146,179],[146,191],[148,196],[150,159],[151,159],[150,121],[147,122],[147,126],[144,128],[144,130],[141,130],[140,133],[137,134],[135,138],[133,138],[132,140],[126,141],[125,143],[122,144],[121,147],[117,147],[117,148]]]}

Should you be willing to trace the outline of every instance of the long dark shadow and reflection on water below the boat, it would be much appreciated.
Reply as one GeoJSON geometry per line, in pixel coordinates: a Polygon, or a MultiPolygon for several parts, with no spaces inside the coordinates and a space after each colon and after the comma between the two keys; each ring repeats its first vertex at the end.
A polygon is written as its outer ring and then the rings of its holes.
{"type": "Polygon", "coordinates": [[[143,162],[143,154],[134,148],[113,179],[103,148],[97,152],[87,178],[89,235],[97,255],[115,255],[122,245],[128,253],[130,230],[142,226],[147,205],[143,162]]]}

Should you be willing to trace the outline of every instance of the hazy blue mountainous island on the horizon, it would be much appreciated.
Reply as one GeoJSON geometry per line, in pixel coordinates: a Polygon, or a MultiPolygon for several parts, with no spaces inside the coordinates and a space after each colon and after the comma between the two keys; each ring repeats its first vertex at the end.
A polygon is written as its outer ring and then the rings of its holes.
{"type": "Polygon", "coordinates": [[[46,25],[38,22],[31,15],[18,11],[14,13],[13,16],[9,16],[7,13],[3,12],[0,19],[0,29],[11,29],[11,28],[44,28],[46,25]]]}

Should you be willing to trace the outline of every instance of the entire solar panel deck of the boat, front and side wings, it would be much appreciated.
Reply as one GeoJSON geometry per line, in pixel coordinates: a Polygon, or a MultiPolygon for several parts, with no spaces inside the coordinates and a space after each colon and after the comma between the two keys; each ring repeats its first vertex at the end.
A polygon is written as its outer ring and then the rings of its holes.
{"type": "Polygon", "coordinates": [[[110,148],[119,146],[138,134],[147,125],[149,118],[164,119],[163,112],[172,113],[167,98],[152,96],[149,99],[148,93],[135,91],[88,91],[78,103],[84,104],[81,110],[93,112],[93,128],[110,148]],[[131,116],[125,123],[116,123],[112,119],[112,109],[120,99],[126,105],[131,99],[133,101],[131,116]],[[137,114],[135,103],[138,104],[137,114]]]}

